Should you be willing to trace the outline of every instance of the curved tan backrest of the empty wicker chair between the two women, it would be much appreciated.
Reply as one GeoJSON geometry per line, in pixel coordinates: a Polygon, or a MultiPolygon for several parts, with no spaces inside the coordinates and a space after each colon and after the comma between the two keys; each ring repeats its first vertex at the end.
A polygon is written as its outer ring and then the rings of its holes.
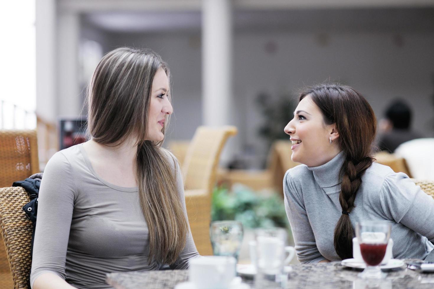
{"type": "Polygon", "coordinates": [[[211,193],[217,176],[220,153],[228,137],[237,134],[237,128],[198,127],[184,159],[186,189],[206,189],[211,193]]]}

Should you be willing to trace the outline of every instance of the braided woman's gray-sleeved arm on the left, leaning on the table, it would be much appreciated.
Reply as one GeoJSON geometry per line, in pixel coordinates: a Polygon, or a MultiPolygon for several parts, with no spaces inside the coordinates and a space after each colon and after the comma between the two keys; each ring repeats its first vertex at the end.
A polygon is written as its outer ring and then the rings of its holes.
{"type": "Polygon", "coordinates": [[[286,215],[296,244],[297,259],[301,263],[318,263],[326,260],[316,247],[315,236],[307,217],[306,208],[304,208],[301,194],[293,184],[289,171],[283,178],[283,191],[286,215]]]}

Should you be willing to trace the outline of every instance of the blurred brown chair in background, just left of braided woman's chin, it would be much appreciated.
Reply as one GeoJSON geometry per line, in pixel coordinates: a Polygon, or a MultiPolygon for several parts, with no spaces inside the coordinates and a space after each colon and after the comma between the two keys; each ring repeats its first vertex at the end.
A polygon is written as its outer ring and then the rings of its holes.
{"type": "Polygon", "coordinates": [[[285,172],[299,165],[291,160],[292,143],[289,140],[273,142],[267,158],[265,170],[221,169],[220,182],[240,183],[253,190],[273,189],[283,194],[283,177],[285,172]]]}

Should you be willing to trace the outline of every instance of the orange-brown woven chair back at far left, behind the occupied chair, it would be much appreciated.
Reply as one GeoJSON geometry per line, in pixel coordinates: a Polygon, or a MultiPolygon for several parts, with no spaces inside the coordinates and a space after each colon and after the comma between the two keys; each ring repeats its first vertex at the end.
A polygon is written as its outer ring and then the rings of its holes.
{"type": "Polygon", "coordinates": [[[36,130],[0,130],[0,188],[39,172],[36,130]]]}

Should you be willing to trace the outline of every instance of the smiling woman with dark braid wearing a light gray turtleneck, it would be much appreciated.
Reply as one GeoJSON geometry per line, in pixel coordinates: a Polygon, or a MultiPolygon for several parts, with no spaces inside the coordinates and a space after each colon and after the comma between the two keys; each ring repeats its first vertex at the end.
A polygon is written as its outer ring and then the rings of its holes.
{"type": "Polygon", "coordinates": [[[364,220],[391,223],[394,258],[424,259],[434,248],[434,200],[404,173],[374,162],[375,130],[371,106],[349,86],[300,94],[285,132],[302,165],[283,180],[300,262],[352,258],[354,227],[364,220]]]}

